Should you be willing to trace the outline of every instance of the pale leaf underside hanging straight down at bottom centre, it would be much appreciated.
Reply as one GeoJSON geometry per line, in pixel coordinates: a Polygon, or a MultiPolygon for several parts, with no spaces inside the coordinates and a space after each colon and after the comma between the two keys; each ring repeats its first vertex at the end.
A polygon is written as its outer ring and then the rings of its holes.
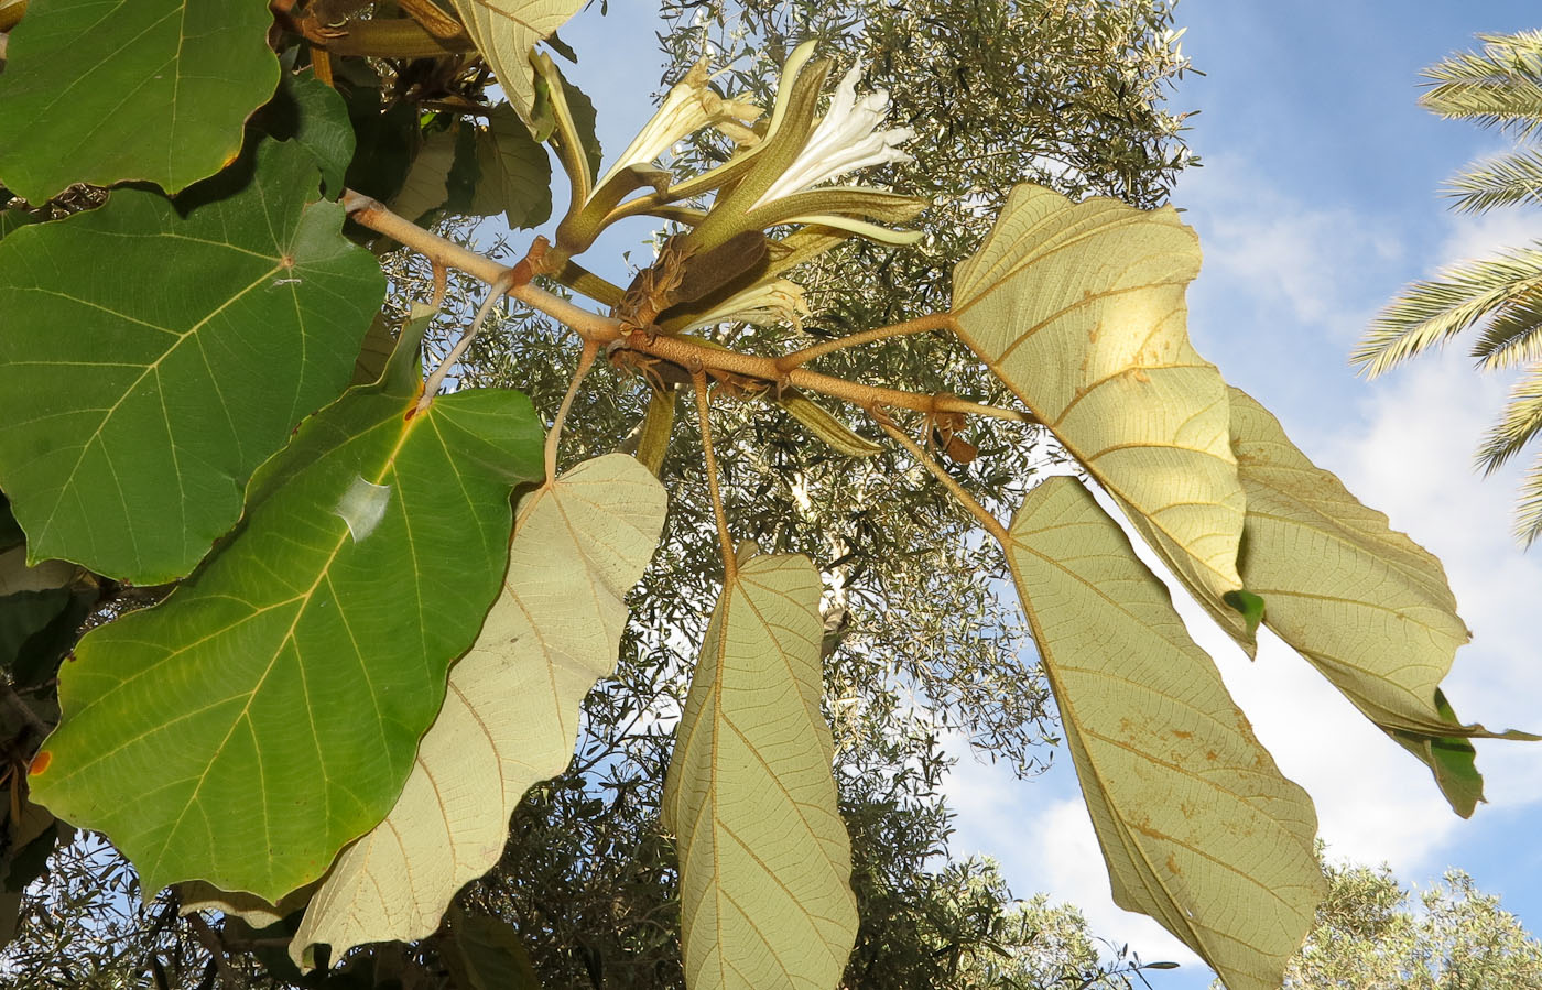
{"type": "Polygon", "coordinates": [[[856,941],[819,592],[806,557],[746,543],[706,628],[663,797],[691,990],[834,987],[856,941]]]}

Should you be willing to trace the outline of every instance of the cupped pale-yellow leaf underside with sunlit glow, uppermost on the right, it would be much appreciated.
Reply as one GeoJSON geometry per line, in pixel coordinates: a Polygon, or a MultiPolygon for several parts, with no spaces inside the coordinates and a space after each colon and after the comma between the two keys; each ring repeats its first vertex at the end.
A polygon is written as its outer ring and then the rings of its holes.
{"type": "Polygon", "coordinates": [[[954,270],[953,311],[1147,543],[1220,598],[1241,584],[1244,500],[1226,382],[1189,344],[1183,296],[1198,271],[1198,239],[1170,207],[1019,185],[954,270]]]}

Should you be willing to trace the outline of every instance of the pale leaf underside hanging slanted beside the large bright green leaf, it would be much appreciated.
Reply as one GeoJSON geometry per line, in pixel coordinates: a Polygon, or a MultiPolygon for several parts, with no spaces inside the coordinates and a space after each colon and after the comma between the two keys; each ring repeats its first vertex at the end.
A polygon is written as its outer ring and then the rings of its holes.
{"type": "Polygon", "coordinates": [[[290,945],[432,934],[455,893],[497,865],[509,816],[532,783],[572,759],[578,706],[615,671],[626,592],[665,523],[665,489],[609,453],[520,503],[503,594],[450,671],[438,720],[396,806],[348,847],[290,945]]]}

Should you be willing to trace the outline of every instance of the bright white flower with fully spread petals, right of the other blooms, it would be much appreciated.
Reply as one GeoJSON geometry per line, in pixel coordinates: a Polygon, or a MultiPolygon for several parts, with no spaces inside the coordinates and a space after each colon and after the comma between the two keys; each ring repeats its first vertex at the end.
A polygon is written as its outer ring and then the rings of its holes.
{"type": "Polygon", "coordinates": [[[803,151],[782,176],[771,184],[751,210],[802,193],[820,182],[836,179],[859,168],[888,162],[910,162],[911,156],[899,145],[914,137],[910,128],[879,131],[888,113],[888,93],[876,89],[857,99],[857,77],[862,65],[853,65],[836,94],[830,111],[814,126],[803,151]]]}

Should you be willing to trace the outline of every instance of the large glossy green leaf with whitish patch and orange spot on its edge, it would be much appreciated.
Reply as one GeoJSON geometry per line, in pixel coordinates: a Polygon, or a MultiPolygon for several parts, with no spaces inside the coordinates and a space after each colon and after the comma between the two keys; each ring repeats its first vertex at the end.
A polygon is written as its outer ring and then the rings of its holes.
{"type": "Polygon", "coordinates": [[[150,890],[278,902],[318,877],[390,811],[497,595],[540,424],[504,390],[410,415],[416,339],[399,352],[258,472],[205,566],[63,671],[34,797],[105,831],[150,890]]]}

